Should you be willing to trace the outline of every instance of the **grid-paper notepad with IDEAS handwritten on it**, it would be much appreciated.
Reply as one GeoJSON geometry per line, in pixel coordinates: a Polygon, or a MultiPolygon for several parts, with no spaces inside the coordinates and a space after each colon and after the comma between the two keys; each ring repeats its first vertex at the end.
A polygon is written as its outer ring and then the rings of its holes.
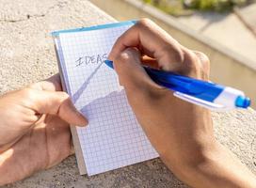
{"type": "Polygon", "coordinates": [[[104,60],[134,24],[104,24],[53,33],[63,88],[88,126],[72,129],[80,174],[95,175],[158,156],[138,124],[115,71],[104,60]]]}

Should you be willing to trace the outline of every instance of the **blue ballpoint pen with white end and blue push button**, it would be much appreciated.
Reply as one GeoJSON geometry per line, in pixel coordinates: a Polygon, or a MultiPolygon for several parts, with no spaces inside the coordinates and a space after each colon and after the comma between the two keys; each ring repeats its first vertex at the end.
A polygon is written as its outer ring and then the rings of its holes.
{"type": "MultiPolygon", "coordinates": [[[[104,63],[113,68],[113,62],[104,63]]],[[[173,95],[186,101],[198,104],[211,110],[227,110],[232,108],[248,108],[250,100],[244,92],[229,86],[221,86],[211,82],[182,76],[167,71],[158,71],[143,66],[152,80],[160,86],[174,91],[173,95]]]]}

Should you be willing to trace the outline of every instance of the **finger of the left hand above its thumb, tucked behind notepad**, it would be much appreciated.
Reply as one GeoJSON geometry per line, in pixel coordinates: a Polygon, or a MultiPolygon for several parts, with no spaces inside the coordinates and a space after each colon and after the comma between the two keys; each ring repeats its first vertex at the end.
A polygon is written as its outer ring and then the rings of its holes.
{"type": "Polygon", "coordinates": [[[50,78],[40,81],[39,83],[28,86],[30,88],[48,91],[62,91],[59,74],[55,74],[50,78]]]}

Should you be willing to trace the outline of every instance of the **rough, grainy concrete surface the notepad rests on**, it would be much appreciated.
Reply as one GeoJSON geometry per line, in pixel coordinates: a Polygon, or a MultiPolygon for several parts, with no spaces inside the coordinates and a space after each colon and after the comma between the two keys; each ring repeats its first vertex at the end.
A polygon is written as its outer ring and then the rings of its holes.
{"type": "MultiPolygon", "coordinates": [[[[0,93],[57,72],[50,32],[104,24],[113,19],[85,0],[0,1],[0,93]]],[[[213,115],[217,139],[256,173],[256,112],[213,115]]],[[[160,162],[135,164],[88,178],[74,156],[55,167],[4,187],[186,187],[160,162]]]]}

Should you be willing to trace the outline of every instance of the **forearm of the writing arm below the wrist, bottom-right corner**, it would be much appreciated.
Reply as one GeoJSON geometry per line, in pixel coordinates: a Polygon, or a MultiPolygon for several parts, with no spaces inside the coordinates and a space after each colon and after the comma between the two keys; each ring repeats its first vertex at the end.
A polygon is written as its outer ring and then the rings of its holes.
{"type": "Polygon", "coordinates": [[[181,166],[175,166],[166,160],[170,169],[192,187],[254,188],[256,177],[248,168],[235,158],[232,152],[220,144],[215,149],[203,153],[201,159],[191,159],[181,166]],[[194,162],[193,162],[194,161],[194,162]]]}

